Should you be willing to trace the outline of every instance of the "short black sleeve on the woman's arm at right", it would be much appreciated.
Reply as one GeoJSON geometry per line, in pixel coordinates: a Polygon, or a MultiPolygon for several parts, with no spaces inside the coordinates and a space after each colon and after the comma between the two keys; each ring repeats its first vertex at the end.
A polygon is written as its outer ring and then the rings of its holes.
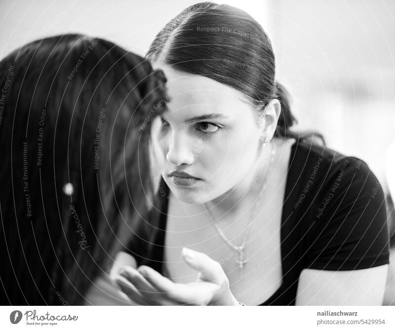
{"type": "Polygon", "coordinates": [[[312,209],[304,268],[354,270],[389,263],[383,189],[366,163],[342,157],[312,209]]]}

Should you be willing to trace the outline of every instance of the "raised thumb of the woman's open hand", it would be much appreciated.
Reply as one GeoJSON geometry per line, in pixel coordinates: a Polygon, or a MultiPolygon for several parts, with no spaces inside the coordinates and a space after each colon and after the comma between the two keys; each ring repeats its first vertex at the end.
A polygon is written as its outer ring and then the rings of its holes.
{"type": "Polygon", "coordinates": [[[199,279],[221,285],[226,276],[219,262],[211,259],[201,252],[183,248],[184,260],[194,269],[200,272],[199,279]]]}

